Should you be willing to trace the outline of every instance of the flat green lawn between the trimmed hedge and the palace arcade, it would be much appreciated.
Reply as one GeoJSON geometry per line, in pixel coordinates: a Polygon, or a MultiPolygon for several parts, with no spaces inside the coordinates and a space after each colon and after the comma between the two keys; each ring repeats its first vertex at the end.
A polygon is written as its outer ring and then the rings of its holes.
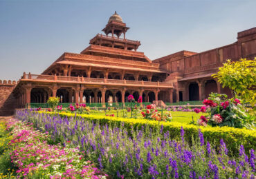
{"type": "MultiPolygon", "coordinates": [[[[125,110],[126,112],[126,110],[125,110]]],[[[164,111],[166,112],[166,111],[164,111]]],[[[190,123],[192,122],[192,116],[194,118],[194,121],[197,121],[201,115],[204,115],[203,113],[196,114],[195,112],[170,112],[172,114],[172,121],[179,122],[179,123],[190,123]]],[[[90,114],[99,115],[99,116],[105,116],[106,114],[114,114],[115,117],[119,116],[122,117],[125,113],[120,110],[117,114],[116,110],[91,110],[90,114]]],[[[127,112],[127,117],[131,117],[131,112],[127,112]]],[[[143,118],[141,114],[138,114],[138,118],[143,118]]]]}

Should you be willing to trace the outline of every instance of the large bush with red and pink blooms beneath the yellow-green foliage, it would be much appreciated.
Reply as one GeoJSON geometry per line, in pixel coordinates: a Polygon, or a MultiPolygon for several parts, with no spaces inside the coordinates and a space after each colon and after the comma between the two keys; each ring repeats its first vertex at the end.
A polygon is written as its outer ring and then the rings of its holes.
{"type": "MultiPolygon", "coordinates": [[[[255,126],[255,116],[250,116],[246,113],[246,108],[241,105],[239,99],[228,99],[226,94],[210,94],[208,99],[203,101],[203,104],[208,107],[201,108],[201,112],[208,111],[208,120],[206,118],[199,119],[200,125],[207,123],[212,126],[229,126],[229,127],[247,127],[255,126]]],[[[197,109],[196,111],[197,112],[197,109]]]]}

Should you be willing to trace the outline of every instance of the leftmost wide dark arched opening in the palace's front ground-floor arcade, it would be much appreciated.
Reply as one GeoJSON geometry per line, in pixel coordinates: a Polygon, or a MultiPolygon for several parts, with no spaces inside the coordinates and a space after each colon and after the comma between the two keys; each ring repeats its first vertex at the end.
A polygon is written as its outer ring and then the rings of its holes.
{"type": "Polygon", "coordinates": [[[30,92],[30,103],[46,103],[48,93],[44,88],[33,88],[30,92]]]}

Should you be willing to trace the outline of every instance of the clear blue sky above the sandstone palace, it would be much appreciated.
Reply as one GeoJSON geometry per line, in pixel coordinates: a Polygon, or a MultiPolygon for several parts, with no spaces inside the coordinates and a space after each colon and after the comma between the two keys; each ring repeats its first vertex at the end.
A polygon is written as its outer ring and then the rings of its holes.
{"type": "Polygon", "coordinates": [[[80,53],[116,10],[149,59],[234,43],[256,26],[256,1],[1,1],[0,79],[42,73],[63,52],[80,53]]]}

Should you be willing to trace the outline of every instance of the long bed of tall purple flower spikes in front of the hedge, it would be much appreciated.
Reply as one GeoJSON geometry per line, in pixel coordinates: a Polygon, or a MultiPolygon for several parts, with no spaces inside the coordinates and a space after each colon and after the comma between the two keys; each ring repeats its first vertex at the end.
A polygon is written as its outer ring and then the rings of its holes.
{"type": "MultiPolygon", "coordinates": [[[[17,113],[17,117],[33,122],[35,127],[48,131],[55,140],[60,140],[64,145],[68,141],[71,141],[69,144],[73,147],[80,145],[89,160],[97,162],[100,169],[111,173],[114,178],[255,177],[254,150],[250,149],[248,156],[241,145],[239,158],[233,158],[228,156],[230,145],[225,144],[222,139],[215,138],[220,146],[216,151],[214,146],[204,139],[203,134],[208,133],[205,131],[208,127],[198,131],[197,128],[187,126],[184,130],[183,127],[176,126],[177,131],[172,131],[173,125],[168,128],[170,130],[166,128],[170,123],[150,120],[122,121],[116,118],[120,125],[117,126],[118,123],[115,123],[116,126],[110,126],[104,121],[114,121],[113,117],[97,116],[98,119],[101,117],[101,120],[98,120],[102,122],[101,125],[89,119],[90,115],[86,116],[89,120],[22,112],[17,113]],[[145,125],[146,121],[148,125],[145,125]],[[140,123],[141,129],[129,131],[129,123],[140,123]],[[151,127],[155,127],[157,132],[153,134],[151,127]],[[185,139],[189,135],[191,138],[190,131],[193,130],[196,133],[192,134],[196,134],[198,139],[192,140],[190,147],[185,139]],[[173,140],[173,133],[177,133],[180,142],[173,140]]],[[[136,126],[138,125],[134,125],[135,128],[136,126]]]]}

